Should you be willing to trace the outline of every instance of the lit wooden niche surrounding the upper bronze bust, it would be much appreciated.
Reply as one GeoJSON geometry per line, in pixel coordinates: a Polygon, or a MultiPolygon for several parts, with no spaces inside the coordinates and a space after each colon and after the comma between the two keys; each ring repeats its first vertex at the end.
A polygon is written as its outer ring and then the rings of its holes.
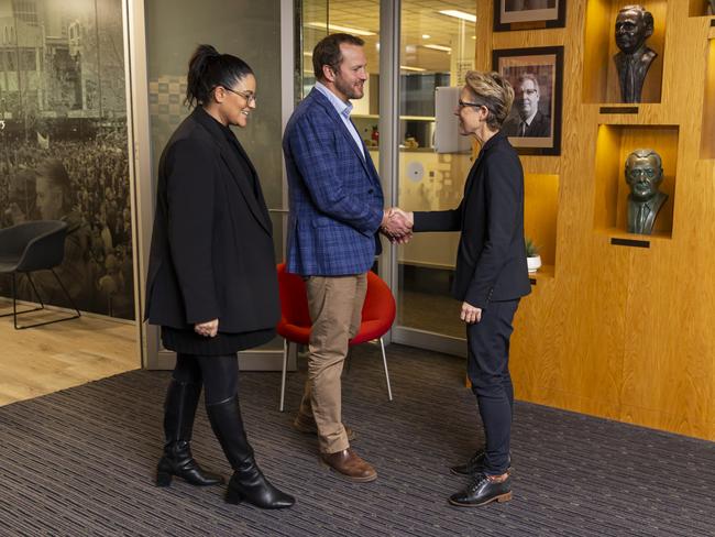
{"type": "MultiPolygon", "coordinates": [[[[583,54],[583,102],[585,103],[620,103],[620,87],[618,72],[614,63],[617,54],[616,17],[618,11],[629,3],[625,0],[588,0],[586,7],[586,23],[583,54]]],[[[653,34],[647,45],[658,53],[658,57],[648,69],[641,102],[660,102],[663,85],[663,58],[666,56],[666,15],[667,0],[652,0],[642,6],[652,13],[653,34]]],[[[634,103],[624,103],[632,107],[634,103]]],[[[613,113],[613,112],[612,112],[613,113]]]]}

